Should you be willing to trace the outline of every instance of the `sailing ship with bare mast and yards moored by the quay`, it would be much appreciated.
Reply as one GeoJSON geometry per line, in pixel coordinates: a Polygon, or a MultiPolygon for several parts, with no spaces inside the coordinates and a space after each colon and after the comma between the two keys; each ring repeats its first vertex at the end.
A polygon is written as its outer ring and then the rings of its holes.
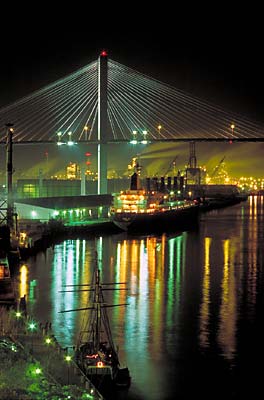
{"type": "Polygon", "coordinates": [[[113,287],[113,285],[122,285],[123,283],[102,283],[100,270],[96,262],[92,282],[87,285],[79,285],[88,286],[88,288],[77,289],[77,291],[86,290],[90,292],[88,306],[60,311],[88,311],[84,330],[81,331],[76,346],[75,361],[82,372],[103,394],[111,389],[129,388],[131,383],[128,368],[120,366],[107,314],[107,308],[125,306],[127,304],[107,304],[103,294],[105,290],[124,290],[122,287],[113,287]]]}

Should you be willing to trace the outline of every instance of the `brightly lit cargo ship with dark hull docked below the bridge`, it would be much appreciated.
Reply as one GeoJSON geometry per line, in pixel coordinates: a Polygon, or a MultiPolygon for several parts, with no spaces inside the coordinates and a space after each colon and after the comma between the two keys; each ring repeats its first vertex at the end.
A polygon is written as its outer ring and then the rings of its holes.
{"type": "Polygon", "coordinates": [[[199,202],[174,191],[142,188],[138,164],[130,188],[114,195],[111,219],[121,230],[135,233],[183,231],[198,220],[199,202]]]}

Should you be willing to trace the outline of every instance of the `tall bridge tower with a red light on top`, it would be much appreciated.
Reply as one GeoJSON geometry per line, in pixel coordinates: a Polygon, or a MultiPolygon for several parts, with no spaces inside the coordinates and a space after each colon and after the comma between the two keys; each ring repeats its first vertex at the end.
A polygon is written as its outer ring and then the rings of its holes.
{"type": "Polygon", "coordinates": [[[98,58],[97,193],[107,193],[107,52],[98,58]]]}

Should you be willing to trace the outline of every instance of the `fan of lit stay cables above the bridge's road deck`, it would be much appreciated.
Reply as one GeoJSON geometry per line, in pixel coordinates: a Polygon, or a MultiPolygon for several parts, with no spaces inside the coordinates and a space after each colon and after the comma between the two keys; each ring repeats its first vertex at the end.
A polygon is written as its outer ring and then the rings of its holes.
{"type": "Polygon", "coordinates": [[[264,141],[264,126],[260,123],[107,59],[106,54],[107,82],[102,93],[101,56],[1,108],[0,142],[6,142],[6,123],[14,124],[13,143],[17,144],[144,139],[264,141]],[[103,131],[99,132],[101,102],[106,103],[107,115],[103,131]]]}

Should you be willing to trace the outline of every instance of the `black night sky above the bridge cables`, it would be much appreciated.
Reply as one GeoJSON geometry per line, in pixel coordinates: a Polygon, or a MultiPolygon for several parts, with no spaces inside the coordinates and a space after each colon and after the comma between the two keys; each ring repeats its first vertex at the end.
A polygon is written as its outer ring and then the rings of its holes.
{"type": "MultiPolygon", "coordinates": [[[[7,11],[0,24],[0,107],[74,72],[106,49],[121,64],[264,124],[261,13],[241,6],[239,12],[230,5],[220,9],[220,3],[214,9],[186,5],[185,10],[177,3],[144,9],[142,4],[110,10],[90,9],[89,3],[86,10],[39,4],[7,11]]],[[[244,162],[251,165],[253,154],[255,165],[256,146],[245,146],[244,162]]],[[[262,145],[257,149],[263,153],[262,145]]],[[[216,158],[223,154],[221,149],[216,158]]]]}

